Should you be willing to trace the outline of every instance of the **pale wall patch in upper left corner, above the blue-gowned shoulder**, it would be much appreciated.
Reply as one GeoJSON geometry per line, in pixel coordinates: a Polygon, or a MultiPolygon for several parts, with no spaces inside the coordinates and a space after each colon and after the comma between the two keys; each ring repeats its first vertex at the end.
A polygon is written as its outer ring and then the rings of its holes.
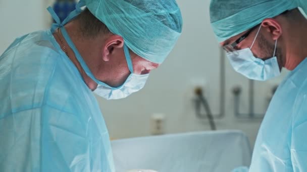
{"type": "Polygon", "coordinates": [[[0,0],[0,54],[16,37],[47,28],[50,19],[44,7],[51,1],[0,0]]]}

